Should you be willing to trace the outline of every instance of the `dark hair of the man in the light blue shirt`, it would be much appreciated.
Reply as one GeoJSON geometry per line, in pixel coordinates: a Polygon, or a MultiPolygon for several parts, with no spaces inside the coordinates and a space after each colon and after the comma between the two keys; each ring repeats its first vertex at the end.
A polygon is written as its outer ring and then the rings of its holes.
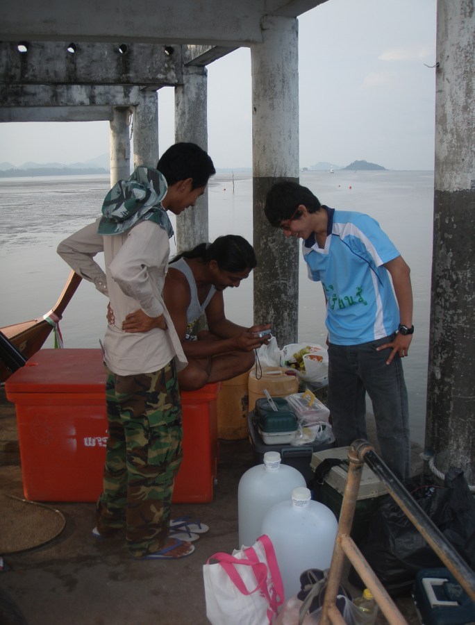
{"type": "Polygon", "coordinates": [[[322,206],[310,189],[290,181],[276,183],[265,198],[265,216],[269,224],[280,226],[281,222],[294,215],[301,204],[309,213],[317,213],[322,206]]]}

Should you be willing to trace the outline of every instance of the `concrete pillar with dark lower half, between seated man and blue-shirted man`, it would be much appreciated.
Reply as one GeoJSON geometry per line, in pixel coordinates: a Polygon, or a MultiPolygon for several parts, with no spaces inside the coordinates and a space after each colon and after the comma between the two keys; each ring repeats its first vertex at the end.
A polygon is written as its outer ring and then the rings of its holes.
{"type": "Polygon", "coordinates": [[[251,46],[254,322],[272,323],[279,347],[297,342],[299,244],[264,215],[274,183],[299,181],[299,41],[297,19],[265,17],[263,43],[251,46]]]}

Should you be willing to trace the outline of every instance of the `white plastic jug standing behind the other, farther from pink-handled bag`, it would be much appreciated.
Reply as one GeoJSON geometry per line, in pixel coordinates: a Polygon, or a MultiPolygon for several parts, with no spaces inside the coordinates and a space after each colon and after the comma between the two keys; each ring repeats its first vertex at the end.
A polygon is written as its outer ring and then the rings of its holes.
{"type": "Polygon", "coordinates": [[[264,463],[247,469],[238,486],[239,547],[251,547],[263,532],[264,515],[274,503],[288,500],[294,488],[305,487],[301,472],[281,464],[278,451],[266,451],[264,463]]]}

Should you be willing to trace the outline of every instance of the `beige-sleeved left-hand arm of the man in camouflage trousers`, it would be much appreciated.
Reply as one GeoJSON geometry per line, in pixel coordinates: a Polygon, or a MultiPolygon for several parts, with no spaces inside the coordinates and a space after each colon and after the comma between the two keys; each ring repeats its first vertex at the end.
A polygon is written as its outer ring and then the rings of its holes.
{"type": "Polygon", "coordinates": [[[57,251],[78,276],[92,282],[98,291],[107,295],[106,274],[94,260],[94,256],[104,249],[97,225],[98,221],[81,228],[60,242],[57,251]]]}

